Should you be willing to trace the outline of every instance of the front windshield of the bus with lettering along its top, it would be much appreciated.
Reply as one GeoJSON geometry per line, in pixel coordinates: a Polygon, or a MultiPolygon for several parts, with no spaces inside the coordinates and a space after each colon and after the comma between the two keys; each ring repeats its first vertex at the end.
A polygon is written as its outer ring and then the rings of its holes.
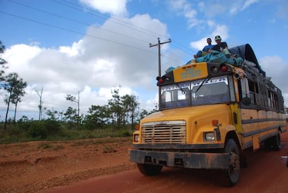
{"type": "Polygon", "coordinates": [[[209,105],[230,101],[227,76],[198,79],[161,87],[161,109],[209,105]]]}

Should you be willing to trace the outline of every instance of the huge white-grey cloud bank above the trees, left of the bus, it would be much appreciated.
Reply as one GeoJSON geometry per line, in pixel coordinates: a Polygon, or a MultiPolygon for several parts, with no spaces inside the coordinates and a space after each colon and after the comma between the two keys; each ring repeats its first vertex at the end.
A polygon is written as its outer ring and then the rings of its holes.
{"type": "MultiPolygon", "coordinates": [[[[72,43],[70,47],[51,49],[36,45],[13,45],[6,49],[4,58],[9,61],[6,73],[17,72],[29,85],[27,94],[17,107],[17,118],[21,118],[24,111],[27,114],[34,112],[34,118],[37,118],[40,98],[35,90],[41,88],[43,107],[49,110],[77,108],[77,104],[65,100],[65,96],[77,96],[79,91],[80,110],[86,114],[91,105],[106,105],[111,98],[111,90],[119,85],[120,95],[137,95],[141,108],[154,108],[158,89],[155,80],[158,75],[158,55],[157,47],[150,48],[149,43],[157,42],[158,34],[167,37],[166,25],[149,15],[113,21],[115,19],[111,18],[99,28],[90,26],[88,36],[72,43]]],[[[163,53],[167,47],[161,47],[163,53]]],[[[175,63],[168,63],[163,57],[163,71],[175,66],[175,63]]],[[[0,92],[0,100],[3,101],[6,92],[0,92]]],[[[12,111],[13,105],[10,108],[12,111]]],[[[5,109],[6,105],[0,102],[1,119],[5,117],[5,109]]]]}

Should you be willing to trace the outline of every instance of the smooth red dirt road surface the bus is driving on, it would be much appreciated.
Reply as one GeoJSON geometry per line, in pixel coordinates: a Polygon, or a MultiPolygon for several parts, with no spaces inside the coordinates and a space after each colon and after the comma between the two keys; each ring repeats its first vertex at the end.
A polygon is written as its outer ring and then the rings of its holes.
{"type": "Polygon", "coordinates": [[[281,137],[280,151],[246,151],[248,167],[234,187],[225,187],[221,171],[164,168],[159,176],[130,169],[42,192],[288,192],[288,132],[281,137]]]}

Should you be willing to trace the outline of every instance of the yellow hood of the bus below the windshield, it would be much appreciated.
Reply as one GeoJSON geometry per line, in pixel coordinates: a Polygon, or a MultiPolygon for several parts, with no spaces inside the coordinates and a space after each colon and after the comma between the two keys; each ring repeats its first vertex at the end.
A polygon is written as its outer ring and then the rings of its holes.
{"type": "MultiPolygon", "coordinates": [[[[227,125],[232,123],[232,117],[230,114],[230,106],[225,104],[166,109],[143,118],[141,120],[140,129],[142,130],[142,126],[143,128],[146,128],[147,124],[143,125],[143,123],[152,123],[152,125],[155,125],[155,128],[153,126],[155,130],[157,130],[158,127],[156,126],[157,123],[162,125],[161,129],[163,129],[163,124],[165,123],[175,123],[177,124],[177,127],[175,127],[179,129],[179,122],[177,121],[185,122],[184,125],[180,126],[180,128],[184,127],[184,130],[186,130],[185,144],[205,144],[207,142],[203,141],[202,133],[214,131],[214,128],[216,127],[215,124],[221,125],[221,128],[224,129],[227,125]]],[[[173,128],[173,125],[169,125],[167,129],[169,130],[171,126],[173,128]]],[[[150,130],[147,130],[147,132],[150,132],[150,130]]],[[[145,134],[145,136],[150,137],[149,134],[145,134]]],[[[218,143],[222,142],[223,141],[218,141],[218,143]]],[[[180,144],[182,143],[183,141],[180,144]]]]}

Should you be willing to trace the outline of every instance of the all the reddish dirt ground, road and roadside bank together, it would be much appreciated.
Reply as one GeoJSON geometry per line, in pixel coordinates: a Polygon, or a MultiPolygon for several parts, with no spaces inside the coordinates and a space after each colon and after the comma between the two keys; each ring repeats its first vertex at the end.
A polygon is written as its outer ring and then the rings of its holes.
{"type": "Polygon", "coordinates": [[[224,186],[220,171],[164,168],[159,176],[143,176],[128,161],[129,138],[50,148],[39,148],[42,142],[1,145],[0,192],[288,192],[288,132],[281,137],[280,151],[246,151],[248,168],[235,187],[224,186]]]}

